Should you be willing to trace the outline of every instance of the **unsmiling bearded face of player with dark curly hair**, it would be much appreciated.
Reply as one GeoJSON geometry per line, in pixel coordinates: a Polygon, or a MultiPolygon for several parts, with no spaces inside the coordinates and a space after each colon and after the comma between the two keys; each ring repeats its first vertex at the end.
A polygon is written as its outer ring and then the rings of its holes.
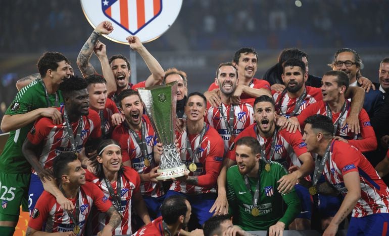
{"type": "Polygon", "coordinates": [[[286,90],[290,93],[297,93],[303,88],[305,81],[307,81],[308,73],[303,73],[299,66],[286,66],[281,77],[286,90]]]}

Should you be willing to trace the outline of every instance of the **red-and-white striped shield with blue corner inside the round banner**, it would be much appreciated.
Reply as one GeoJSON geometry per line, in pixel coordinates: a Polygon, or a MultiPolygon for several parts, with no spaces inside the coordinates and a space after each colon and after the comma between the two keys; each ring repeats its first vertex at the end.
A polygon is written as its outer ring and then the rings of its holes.
{"type": "Polygon", "coordinates": [[[135,35],[162,12],[162,0],[101,1],[104,15],[131,35],[135,35]]]}

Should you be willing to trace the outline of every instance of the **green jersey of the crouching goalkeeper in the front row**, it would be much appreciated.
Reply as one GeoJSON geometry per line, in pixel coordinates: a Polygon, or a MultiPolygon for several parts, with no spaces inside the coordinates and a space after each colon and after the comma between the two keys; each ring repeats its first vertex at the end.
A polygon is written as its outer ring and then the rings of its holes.
{"type": "Polygon", "coordinates": [[[281,195],[277,191],[277,181],[287,172],[277,162],[271,162],[269,172],[265,171],[265,163],[260,160],[260,184],[257,208],[259,215],[253,216],[252,209],[254,193],[258,178],[248,178],[251,192],[245,184],[245,179],[239,173],[238,166],[232,166],[227,171],[228,212],[233,216],[234,224],[244,230],[267,230],[277,221],[285,223],[285,228],[295,219],[301,210],[300,200],[293,189],[290,193],[281,195]],[[284,202],[287,205],[284,212],[284,202]]]}

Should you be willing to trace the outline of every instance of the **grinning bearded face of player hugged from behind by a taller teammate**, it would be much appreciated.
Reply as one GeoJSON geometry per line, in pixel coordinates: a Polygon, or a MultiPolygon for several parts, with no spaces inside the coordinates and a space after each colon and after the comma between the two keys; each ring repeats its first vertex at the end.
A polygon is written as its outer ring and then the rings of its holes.
{"type": "Polygon", "coordinates": [[[235,91],[237,85],[237,71],[233,66],[224,65],[219,68],[218,77],[215,78],[216,85],[220,92],[230,95],[235,91]]]}

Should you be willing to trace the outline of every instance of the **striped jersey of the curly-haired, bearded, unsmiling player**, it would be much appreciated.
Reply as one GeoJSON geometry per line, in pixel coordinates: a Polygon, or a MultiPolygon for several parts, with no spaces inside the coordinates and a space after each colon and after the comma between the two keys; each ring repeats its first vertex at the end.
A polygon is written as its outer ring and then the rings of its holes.
{"type": "MultiPolygon", "coordinates": [[[[310,104],[314,104],[317,101],[323,100],[323,95],[321,94],[321,90],[319,88],[310,86],[306,86],[305,88],[307,91],[307,96],[305,96],[305,99],[301,103],[300,109],[297,111],[295,116],[299,115],[301,111],[307,108],[307,106],[310,104]]],[[[296,101],[298,100],[298,97],[289,98],[287,93],[285,93],[285,95],[282,97],[282,92],[276,92],[274,90],[272,90],[271,93],[273,94],[277,114],[289,117],[296,107],[296,101]],[[282,99],[282,101],[280,101],[280,99],[282,99]]]]}

